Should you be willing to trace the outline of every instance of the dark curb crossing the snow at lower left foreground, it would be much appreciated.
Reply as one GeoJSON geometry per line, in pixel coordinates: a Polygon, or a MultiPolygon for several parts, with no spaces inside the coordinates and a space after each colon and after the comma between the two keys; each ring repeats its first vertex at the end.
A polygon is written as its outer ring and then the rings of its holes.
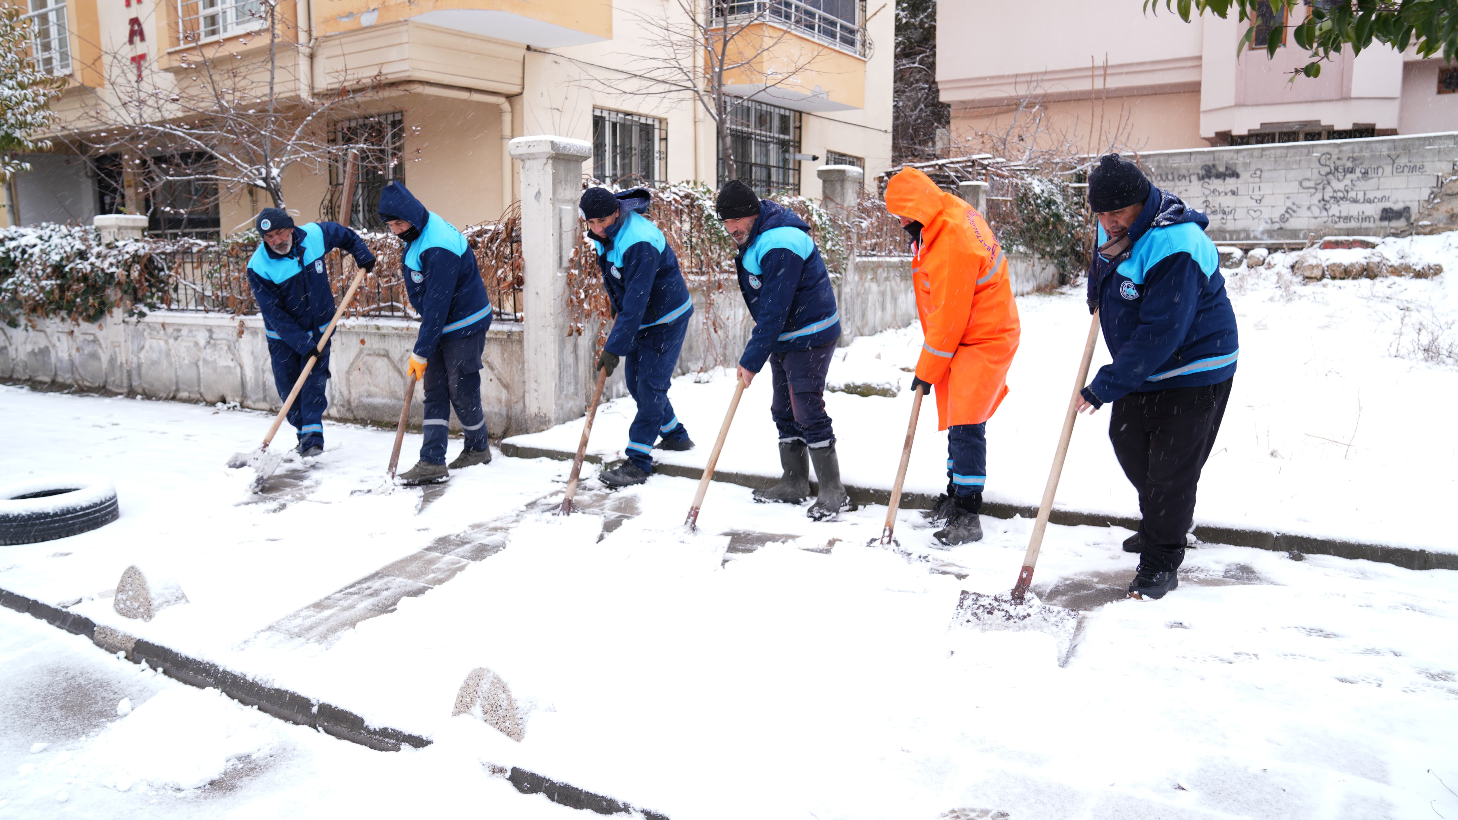
{"type": "MultiPolygon", "coordinates": [[[[146,661],[149,667],[162,670],[168,677],[188,686],[217,689],[245,706],[257,706],[260,712],[290,724],[309,727],[376,751],[399,751],[404,746],[414,749],[430,746],[430,741],[420,735],[389,727],[373,727],[363,716],[348,709],[313,700],[287,689],[264,686],[217,664],[182,655],[166,646],[133,638],[108,626],[98,627],[89,617],[42,604],[9,589],[0,589],[0,606],[44,620],[71,635],[80,635],[109,654],[125,652],[128,661],[134,664],[146,661]]],[[[620,800],[580,789],[572,784],[554,781],[526,769],[493,766],[491,773],[504,776],[521,794],[539,794],[569,808],[583,808],[598,814],[637,811],[644,820],[668,820],[665,814],[637,808],[620,800]]]]}

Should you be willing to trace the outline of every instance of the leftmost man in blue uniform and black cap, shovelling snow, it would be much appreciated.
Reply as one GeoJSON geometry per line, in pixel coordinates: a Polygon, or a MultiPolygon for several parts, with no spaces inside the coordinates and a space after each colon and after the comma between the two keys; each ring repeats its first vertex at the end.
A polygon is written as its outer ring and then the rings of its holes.
{"type": "Polygon", "coordinates": [[[248,260],[248,286],[264,320],[278,395],[289,395],[305,363],[318,359],[287,414],[289,423],[299,430],[299,455],[313,458],[324,452],[330,379],[330,346],[319,350],[319,339],[334,318],[334,292],[324,255],[343,248],[362,268],[373,270],[375,254],[359,233],[337,222],[297,228],[289,212],[278,207],[265,207],[254,225],[262,242],[248,260]]]}

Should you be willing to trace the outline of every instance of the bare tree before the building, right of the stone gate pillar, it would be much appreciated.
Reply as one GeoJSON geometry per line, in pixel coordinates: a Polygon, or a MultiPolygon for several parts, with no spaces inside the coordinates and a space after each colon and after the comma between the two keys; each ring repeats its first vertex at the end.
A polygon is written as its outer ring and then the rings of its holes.
{"type": "Polygon", "coordinates": [[[719,152],[729,179],[738,179],[729,123],[749,99],[773,101],[771,92],[796,85],[828,47],[793,35],[784,7],[774,0],[666,0],[656,12],[628,12],[640,32],[642,51],[631,71],[595,73],[614,93],[665,96],[687,93],[719,130],[719,152]],[[732,86],[755,86],[748,96],[732,86]]]}

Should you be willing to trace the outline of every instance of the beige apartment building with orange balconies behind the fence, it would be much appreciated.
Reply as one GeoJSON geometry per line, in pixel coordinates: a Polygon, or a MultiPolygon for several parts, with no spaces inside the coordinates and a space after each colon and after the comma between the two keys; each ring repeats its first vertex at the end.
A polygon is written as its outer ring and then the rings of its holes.
{"type": "MultiPolygon", "coordinates": [[[[506,152],[516,136],[592,142],[583,174],[599,179],[717,182],[714,121],[660,70],[674,45],[665,31],[688,31],[690,15],[758,20],[751,42],[761,48],[725,88],[746,99],[728,127],[739,177],[761,194],[819,197],[819,165],[875,175],[891,162],[889,0],[19,1],[35,25],[36,60],[67,79],[54,104],[61,134],[102,133],[106,112],[137,88],[197,89],[230,61],[254,88],[271,67],[284,102],[356,89],[351,115],[328,125],[331,140],[369,146],[356,225],[378,222],[372,197],[389,179],[453,223],[497,217],[519,190],[506,152]]],[[[694,51],[681,55],[703,71],[694,51]]],[[[149,213],[153,232],[226,235],[270,204],[261,191],[217,201],[207,182],[139,197],[120,153],[90,153],[29,158],[35,169],[7,191],[7,219],[85,223],[130,210],[149,213]]],[[[341,213],[341,177],[337,165],[295,166],[287,207],[300,220],[341,213]]]]}

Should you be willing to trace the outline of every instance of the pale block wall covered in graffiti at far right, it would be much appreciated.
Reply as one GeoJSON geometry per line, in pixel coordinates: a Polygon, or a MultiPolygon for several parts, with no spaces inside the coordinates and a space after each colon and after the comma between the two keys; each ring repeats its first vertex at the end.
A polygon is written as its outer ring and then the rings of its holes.
{"type": "Polygon", "coordinates": [[[1217,242],[1458,229],[1441,191],[1458,174],[1458,133],[1161,150],[1139,162],[1210,214],[1217,242]]]}

